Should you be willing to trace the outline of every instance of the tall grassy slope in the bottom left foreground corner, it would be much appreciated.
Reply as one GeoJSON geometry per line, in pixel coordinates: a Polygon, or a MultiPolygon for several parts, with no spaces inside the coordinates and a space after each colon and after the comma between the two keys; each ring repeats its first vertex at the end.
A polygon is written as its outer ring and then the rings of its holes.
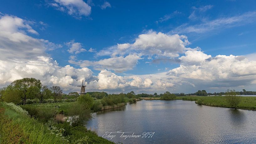
{"type": "Polygon", "coordinates": [[[47,127],[0,104],[0,143],[62,143],[47,127]]]}

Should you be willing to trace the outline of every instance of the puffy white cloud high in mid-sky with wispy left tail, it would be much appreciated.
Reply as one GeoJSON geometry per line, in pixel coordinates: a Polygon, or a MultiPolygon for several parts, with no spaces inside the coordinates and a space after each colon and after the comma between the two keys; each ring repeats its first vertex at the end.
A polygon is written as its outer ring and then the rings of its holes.
{"type": "Polygon", "coordinates": [[[131,52],[143,55],[157,55],[162,57],[178,57],[190,44],[185,35],[168,35],[149,31],[140,34],[133,44],[117,44],[99,52],[98,55],[111,54],[111,56],[124,55],[131,52]]]}

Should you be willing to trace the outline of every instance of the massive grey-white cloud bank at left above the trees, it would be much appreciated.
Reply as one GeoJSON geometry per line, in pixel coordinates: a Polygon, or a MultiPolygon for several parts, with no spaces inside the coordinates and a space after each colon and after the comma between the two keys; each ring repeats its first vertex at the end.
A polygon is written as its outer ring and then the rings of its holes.
{"type": "Polygon", "coordinates": [[[44,84],[60,85],[65,91],[77,89],[83,79],[94,80],[88,68],[61,67],[45,51],[54,43],[35,39],[26,20],[15,16],[0,18],[0,86],[24,77],[40,79],[44,84]],[[30,31],[28,31],[30,30],[30,31]]]}

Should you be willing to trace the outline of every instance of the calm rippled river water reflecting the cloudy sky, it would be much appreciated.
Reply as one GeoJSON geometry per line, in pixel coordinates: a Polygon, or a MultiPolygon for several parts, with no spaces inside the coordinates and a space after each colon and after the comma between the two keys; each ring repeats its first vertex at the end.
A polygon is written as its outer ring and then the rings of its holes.
{"type": "MultiPolygon", "coordinates": [[[[142,100],[112,111],[100,111],[88,128],[105,132],[155,132],[152,137],[120,138],[130,143],[256,143],[256,111],[197,105],[184,100],[142,100]]],[[[125,135],[132,135],[127,133],[125,135]]],[[[107,138],[110,140],[110,138],[107,138]]]]}

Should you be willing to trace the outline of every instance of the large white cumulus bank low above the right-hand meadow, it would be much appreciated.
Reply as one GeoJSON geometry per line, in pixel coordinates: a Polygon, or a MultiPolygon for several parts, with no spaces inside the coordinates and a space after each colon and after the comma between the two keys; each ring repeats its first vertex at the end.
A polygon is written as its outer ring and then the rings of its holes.
{"type": "Polygon", "coordinates": [[[212,57],[201,51],[187,51],[180,60],[180,67],[170,70],[168,75],[190,83],[200,80],[205,85],[229,87],[249,85],[256,78],[256,61],[241,56],[212,57]]]}

